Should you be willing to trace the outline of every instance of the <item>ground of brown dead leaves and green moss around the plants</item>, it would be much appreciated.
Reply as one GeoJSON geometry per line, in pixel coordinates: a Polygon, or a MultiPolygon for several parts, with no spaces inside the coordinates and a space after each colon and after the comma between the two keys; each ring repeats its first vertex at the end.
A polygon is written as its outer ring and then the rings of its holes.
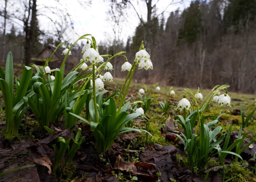
{"type": "MultiPolygon", "coordinates": [[[[121,80],[116,80],[122,84],[121,80]]],[[[116,82],[108,82],[109,92],[114,92],[119,86],[116,82]]],[[[149,89],[152,85],[146,85],[149,89]]],[[[161,85],[160,85],[161,87],[161,85]]],[[[127,99],[130,101],[138,101],[138,90],[144,88],[141,83],[131,83],[127,99]]],[[[50,128],[54,129],[57,134],[50,135],[39,127],[35,116],[28,111],[26,122],[21,121],[19,128],[19,138],[6,140],[3,137],[5,132],[5,111],[2,98],[0,99],[0,181],[19,181],[19,182],[61,182],[61,181],[86,181],[86,182],[118,182],[118,181],[180,181],[180,182],[201,182],[206,176],[205,172],[196,174],[187,167],[187,155],[184,152],[183,144],[176,139],[171,132],[182,132],[180,127],[175,128],[173,125],[175,115],[178,115],[176,109],[170,108],[168,113],[163,113],[159,101],[167,99],[170,87],[161,87],[161,91],[152,89],[150,97],[154,99],[154,103],[150,106],[149,111],[145,114],[151,116],[150,133],[153,133],[161,124],[167,126],[167,134],[164,128],[159,129],[153,136],[150,145],[145,145],[144,133],[126,133],[118,136],[112,148],[106,153],[102,153],[103,157],[97,153],[95,146],[95,138],[92,135],[90,126],[78,120],[77,125],[82,128],[82,136],[85,140],[80,149],[73,158],[73,162],[69,166],[61,167],[55,175],[52,174],[51,166],[54,163],[54,150],[51,142],[57,136],[69,136],[69,130],[64,129],[64,118],[58,123],[53,123],[50,128]],[[57,128],[57,129],[56,129],[57,128]],[[165,137],[165,138],[164,138],[165,137]],[[106,159],[106,161],[104,160],[106,159]],[[35,165],[36,164],[36,165],[35,165]],[[28,166],[31,165],[31,166],[28,166]],[[22,169],[22,166],[26,168],[22,169]],[[14,170],[19,169],[19,170],[14,170]],[[10,173],[1,175],[2,172],[10,173]],[[137,178],[136,178],[137,177],[137,178]]],[[[168,98],[168,102],[177,106],[179,100],[183,98],[184,88],[173,87],[175,95],[168,98]]],[[[195,93],[197,90],[192,89],[195,93]]],[[[201,90],[203,96],[206,96],[210,90],[201,90]]],[[[218,116],[223,114],[218,126],[225,133],[230,124],[233,125],[230,142],[237,138],[238,129],[241,124],[240,106],[247,113],[251,103],[255,99],[255,95],[239,94],[229,92],[232,107],[218,106],[217,103],[211,102],[206,112],[208,116],[218,116]]],[[[189,99],[189,97],[187,97],[189,99]]],[[[189,99],[191,100],[191,99],[189,99]]],[[[200,105],[199,101],[199,105],[200,105]]],[[[80,114],[83,116],[83,112],[80,114]]],[[[249,132],[248,139],[256,139],[256,126],[254,120],[250,121],[246,132],[249,132]]],[[[144,129],[145,122],[137,119],[135,127],[144,129]]],[[[247,141],[244,141],[246,143],[247,141]]],[[[245,145],[245,144],[243,144],[245,145]]],[[[233,156],[228,156],[225,160],[227,165],[225,170],[222,166],[218,166],[217,158],[212,158],[207,165],[207,169],[211,168],[208,179],[206,181],[222,182],[234,177],[230,181],[234,182],[256,182],[254,160],[251,160],[256,152],[256,143],[253,148],[247,148],[241,156],[244,161],[232,163],[233,156]],[[248,161],[249,160],[249,164],[248,161]],[[252,162],[253,161],[253,162],[252,162]],[[253,165],[253,166],[251,166],[253,165]],[[217,166],[217,167],[216,167],[217,166]],[[214,168],[215,167],[215,168],[214,168]],[[224,176],[224,179],[223,179],[224,176]]],[[[216,156],[217,157],[217,156],[216,156]]],[[[64,161],[64,160],[63,160],[64,161]]]]}

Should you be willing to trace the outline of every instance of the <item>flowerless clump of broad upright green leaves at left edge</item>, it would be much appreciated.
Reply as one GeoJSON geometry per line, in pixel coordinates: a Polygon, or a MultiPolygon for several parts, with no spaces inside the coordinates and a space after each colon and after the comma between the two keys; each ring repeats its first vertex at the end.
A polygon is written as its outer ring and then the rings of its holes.
{"type": "Polygon", "coordinates": [[[23,97],[26,94],[31,95],[31,90],[28,91],[28,88],[31,84],[32,68],[24,67],[21,80],[16,78],[16,92],[14,92],[13,60],[12,53],[9,52],[6,59],[5,72],[0,67],[0,76],[0,88],[5,103],[5,138],[9,139],[12,135],[18,136],[19,123],[27,110],[27,106],[23,107],[23,109],[21,107],[24,102],[27,102],[27,99],[23,100],[23,97]],[[22,86],[20,87],[19,85],[22,86]]]}

